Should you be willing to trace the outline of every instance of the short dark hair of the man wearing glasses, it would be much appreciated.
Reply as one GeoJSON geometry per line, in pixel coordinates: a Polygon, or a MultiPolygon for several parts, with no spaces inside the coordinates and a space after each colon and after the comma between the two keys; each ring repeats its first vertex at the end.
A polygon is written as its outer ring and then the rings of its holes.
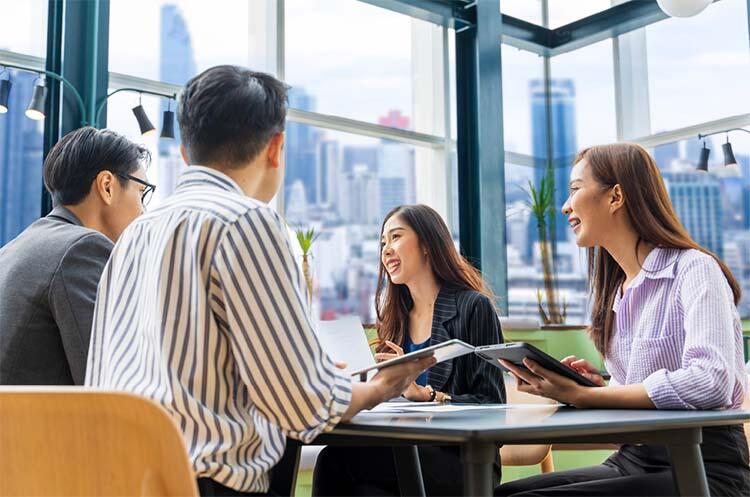
{"type": "Polygon", "coordinates": [[[149,151],[108,129],[71,131],[58,141],[44,161],[44,186],[55,205],[76,205],[91,191],[102,171],[110,171],[124,185],[122,175],[151,162],[149,151]]]}

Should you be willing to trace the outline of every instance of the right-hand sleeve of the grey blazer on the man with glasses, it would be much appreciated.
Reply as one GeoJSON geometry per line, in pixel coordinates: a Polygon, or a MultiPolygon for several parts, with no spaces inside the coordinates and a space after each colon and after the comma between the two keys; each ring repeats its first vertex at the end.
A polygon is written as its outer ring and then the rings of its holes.
{"type": "Polygon", "coordinates": [[[49,287],[50,310],[76,385],[86,377],[96,289],[111,252],[112,242],[99,233],[80,238],[66,251],[49,287]]]}

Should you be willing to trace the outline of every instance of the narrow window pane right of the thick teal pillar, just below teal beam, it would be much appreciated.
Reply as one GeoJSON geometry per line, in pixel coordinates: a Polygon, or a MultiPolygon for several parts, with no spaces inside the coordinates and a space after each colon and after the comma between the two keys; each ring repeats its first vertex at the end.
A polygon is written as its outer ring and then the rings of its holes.
{"type": "Polygon", "coordinates": [[[537,131],[545,132],[544,59],[531,52],[503,45],[502,64],[505,150],[546,156],[541,142],[533,139],[537,131]]]}

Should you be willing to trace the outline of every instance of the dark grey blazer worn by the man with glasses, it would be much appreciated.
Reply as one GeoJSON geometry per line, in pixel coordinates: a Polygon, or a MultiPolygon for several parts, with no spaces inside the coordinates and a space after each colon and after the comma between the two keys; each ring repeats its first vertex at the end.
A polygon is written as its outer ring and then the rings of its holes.
{"type": "Polygon", "coordinates": [[[0,248],[0,385],[82,385],[112,242],[64,207],[0,248]]]}

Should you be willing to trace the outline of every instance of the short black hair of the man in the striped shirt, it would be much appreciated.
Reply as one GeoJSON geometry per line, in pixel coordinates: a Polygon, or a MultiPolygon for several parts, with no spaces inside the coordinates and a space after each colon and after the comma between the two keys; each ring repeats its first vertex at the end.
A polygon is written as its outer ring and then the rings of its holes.
{"type": "Polygon", "coordinates": [[[177,120],[194,164],[241,167],[284,131],[288,86],[237,66],[206,69],[180,95],[177,120]]]}

